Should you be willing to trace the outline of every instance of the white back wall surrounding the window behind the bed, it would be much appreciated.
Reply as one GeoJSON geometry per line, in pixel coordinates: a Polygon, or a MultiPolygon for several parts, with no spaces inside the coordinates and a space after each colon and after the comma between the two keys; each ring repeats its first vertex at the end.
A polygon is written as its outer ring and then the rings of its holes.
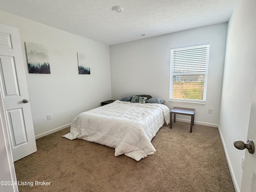
{"type": "MultiPolygon", "coordinates": [[[[174,106],[195,108],[195,121],[218,124],[227,23],[145,38],[110,46],[112,98],[149,94],[174,106]],[[210,61],[205,106],[169,103],[170,48],[210,42],[210,61]],[[208,108],[213,114],[208,114],[208,108]]],[[[189,119],[188,116],[177,118],[189,119]]]]}

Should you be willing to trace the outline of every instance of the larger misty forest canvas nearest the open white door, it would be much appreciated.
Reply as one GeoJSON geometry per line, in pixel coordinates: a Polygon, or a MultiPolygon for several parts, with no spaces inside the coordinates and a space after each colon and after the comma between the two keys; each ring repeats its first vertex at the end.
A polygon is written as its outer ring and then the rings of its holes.
{"type": "Polygon", "coordinates": [[[50,74],[48,48],[44,45],[26,42],[29,73],[50,74]]]}

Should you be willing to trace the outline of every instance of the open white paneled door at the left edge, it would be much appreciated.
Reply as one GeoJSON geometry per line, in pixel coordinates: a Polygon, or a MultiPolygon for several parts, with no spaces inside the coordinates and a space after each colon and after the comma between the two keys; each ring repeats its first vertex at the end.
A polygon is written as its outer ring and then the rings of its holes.
{"type": "Polygon", "coordinates": [[[13,160],[36,152],[19,30],[0,24],[0,90],[13,160]],[[27,100],[24,103],[22,100],[27,100]]]}

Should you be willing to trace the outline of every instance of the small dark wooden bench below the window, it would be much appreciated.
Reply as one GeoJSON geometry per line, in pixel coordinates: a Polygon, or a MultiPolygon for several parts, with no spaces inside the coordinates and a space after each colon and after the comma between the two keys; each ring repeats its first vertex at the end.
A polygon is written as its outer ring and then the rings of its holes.
{"type": "Polygon", "coordinates": [[[190,133],[192,133],[192,128],[194,125],[194,117],[195,117],[195,109],[189,108],[181,108],[181,107],[174,107],[170,110],[170,128],[172,128],[172,114],[173,114],[173,122],[176,122],[176,114],[180,115],[189,115],[191,116],[190,120],[190,133]]]}

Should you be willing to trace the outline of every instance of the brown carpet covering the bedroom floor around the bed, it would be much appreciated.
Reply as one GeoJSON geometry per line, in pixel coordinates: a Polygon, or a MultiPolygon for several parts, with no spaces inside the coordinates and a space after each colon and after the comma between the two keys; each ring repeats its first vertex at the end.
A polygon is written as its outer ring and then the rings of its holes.
{"type": "Polygon", "coordinates": [[[20,192],[235,192],[218,128],[176,122],[136,161],[114,148],[68,140],[69,128],[36,140],[38,152],[14,163],[20,192]],[[36,181],[50,182],[36,186],[36,181]],[[31,182],[33,186],[26,185],[31,182]]]}

